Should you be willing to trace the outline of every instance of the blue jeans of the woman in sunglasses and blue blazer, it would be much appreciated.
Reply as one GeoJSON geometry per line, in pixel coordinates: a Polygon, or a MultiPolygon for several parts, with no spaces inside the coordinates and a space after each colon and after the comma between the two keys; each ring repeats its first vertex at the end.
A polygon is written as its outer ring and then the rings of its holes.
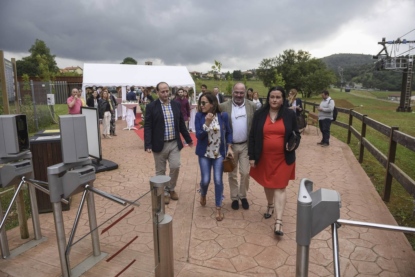
{"type": "Polygon", "coordinates": [[[207,158],[205,156],[199,156],[200,166],[200,195],[206,196],[207,189],[210,183],[210,171],[213,166],[213,181],[215,182],[215,205],[216,207],[222,207],[222,195],[223,195],[223,163],[224,157],[217,159],[207,158]]]}

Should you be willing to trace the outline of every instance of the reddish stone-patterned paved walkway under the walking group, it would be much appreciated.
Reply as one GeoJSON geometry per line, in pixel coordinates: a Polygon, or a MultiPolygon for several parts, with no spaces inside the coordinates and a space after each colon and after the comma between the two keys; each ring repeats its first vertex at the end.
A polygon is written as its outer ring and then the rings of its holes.
{"type": "MultiPolygon", "coordinates": [[[[115,276],[129,264],[121,276],[148,276],[154,269],[151,199],[146,194],[149,178],[154,175],[154,160],[142,150],[144,143],[134,131],[122,131],[124,125],[125,122],[117,121],[118,136],[102,140],[103,157],[120,167],[98,173],[94,185],[128,199],[142,197],[141,205],[125,208],[95,196],[98,224],[103,223],[99,228],[101,250],[108,255],[85,272],[85,276],[115,276]],[[111,226],[112,223],[115,225],[111,226]],[[125,245],[128,246],[115,255],[125,245]]],[[[171,200],[166,209],[173,216],[175,275],[294,276],[296,202],[298,184],[303,177],[314,181],[315,190],[327,188],[340,192],[342,219],[396,224],[349,147],[332,138],[331,147],[322,148],[315,144],[320,139],[321,135],[318,137],[314,128],[303,134],[296,153],[297,178],[287,187],[288,203],[283,216],[285,234],[280,240],[273,234],[275,221],[263,217],[265,194],[253,180],[249,187],[249,210],[230,208],[226,175],[225,219],[215,220],[213,184],[207,194],[206,207],[201,207],[196,192],[200,173],[195,148],[185,147],[176,188],[179,200],[171,200]]],[[[71,210],[63,213],[68,235],[80,198],[81,195],[73,197],[71,210]]],[[[53,216],[41,214],[40,220],[42,234],[49,239],[12,260],[0,260],[0,276],[60,276],[53,216]]],[[[31,220],[29,231],[33,238],[30,226],[31,220]]],[[[84,208],[76,239],[88,231],[84,208]]],[[[11,249],[30,240],[21,240],[18,228],[7,231],[7,236],[11,249]]],[[[329,228],[312,239],[309,276],[332,275],[331,245],[329,228]]],[[[343,226],[339,228],[339,248],[341,276],[415,275],[415,253],[402,233],[343,226]]],[[[72,248],[71,267],[91,253],[90,236],[86,236],[72,248]]]]}

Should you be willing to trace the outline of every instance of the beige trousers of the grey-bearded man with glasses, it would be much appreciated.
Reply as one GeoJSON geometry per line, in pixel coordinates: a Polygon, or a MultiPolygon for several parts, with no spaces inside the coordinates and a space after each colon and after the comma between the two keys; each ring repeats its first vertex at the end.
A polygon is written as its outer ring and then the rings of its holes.
{"type": "Polygon", "coordinates": [[[234,144],[232,146],[234,152],[235,169],[228,173],[229,189],[231,192],[231,200],[247,198],[249,188],[249,156],[247,143],[234,144]],[[238,166],[239,165],[239,166],[238,166]],[[238,185],[237,174],[241,175],[241,184],[238,185]]]}

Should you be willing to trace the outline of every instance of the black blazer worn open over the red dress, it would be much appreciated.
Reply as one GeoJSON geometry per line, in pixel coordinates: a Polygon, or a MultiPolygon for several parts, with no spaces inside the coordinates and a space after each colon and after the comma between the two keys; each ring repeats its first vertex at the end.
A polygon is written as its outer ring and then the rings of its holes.
{"type": "MultiPolygon", "coordinates": [[[[255,160],[256,165],[258,164],[259,158],[261,156],[266,117],[268,117],[268,112],[255,112],[254,119],[252,119],[251,132],[249,133],[248,156],[249,160],[255,160]]],[[[301,136],[300,132],[298,131],[297,117],[295,116],[295,113],[293,113],[293,111],[288,108],[285,108],[284,110],[283,122],[286,129],[284,136],[284,153],[286,163],[291,165],[295,162],[295,149],[297,149],[298,145],[300,144],[301,136]],[[294,150],[287,151],[286,144],[292,131],[295,131],[295,134],[297,135],[297,141],[295,143],[294,150]]]]}

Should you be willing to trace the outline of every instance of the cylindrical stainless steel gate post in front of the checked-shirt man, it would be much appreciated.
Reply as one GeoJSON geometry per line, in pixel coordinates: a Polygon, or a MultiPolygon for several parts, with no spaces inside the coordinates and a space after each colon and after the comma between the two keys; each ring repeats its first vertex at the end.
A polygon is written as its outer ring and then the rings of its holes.
{"type": "Polygon", "coordinates": [[[165,213],[164,187],[170,177],[158,175],[150,178],[153,215],[154,264],[156,277],[173,277],[173,219],[165,213]]]}

